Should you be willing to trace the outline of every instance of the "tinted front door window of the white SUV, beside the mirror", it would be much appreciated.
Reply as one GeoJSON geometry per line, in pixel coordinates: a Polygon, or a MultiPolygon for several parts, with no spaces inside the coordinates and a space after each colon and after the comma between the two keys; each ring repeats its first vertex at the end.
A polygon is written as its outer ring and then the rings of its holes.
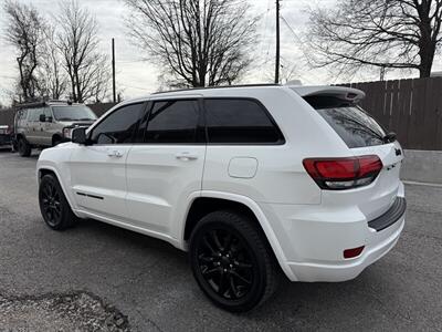
{"type": "Polygon", "coordinates": [[[126,105],[106,116],[92,132],[96,144],[130,143],[143,113],[143,103],[126,105]]]}

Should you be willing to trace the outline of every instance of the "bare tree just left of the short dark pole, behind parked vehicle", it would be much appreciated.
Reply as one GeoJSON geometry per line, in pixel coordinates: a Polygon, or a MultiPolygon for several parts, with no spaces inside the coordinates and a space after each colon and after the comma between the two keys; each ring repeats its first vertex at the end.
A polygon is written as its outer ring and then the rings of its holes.
{"type": "Polygon", "coordinates": [[[106,95],[109,82],[107,56],[98,52],[95,18],[76,0],[61,3],[57,46],[71,84],[74,102],[97,101],[106,95]]]}

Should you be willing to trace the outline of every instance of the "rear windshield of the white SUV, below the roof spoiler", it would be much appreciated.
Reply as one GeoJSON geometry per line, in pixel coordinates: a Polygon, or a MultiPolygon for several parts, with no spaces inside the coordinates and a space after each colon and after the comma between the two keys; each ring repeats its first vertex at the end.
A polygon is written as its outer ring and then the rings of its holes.
{"type": "Polygon", "coordinates": [[[360,106],[329,96],[305,97],[348,147],[385,144],[383,128],[360,106]]]}

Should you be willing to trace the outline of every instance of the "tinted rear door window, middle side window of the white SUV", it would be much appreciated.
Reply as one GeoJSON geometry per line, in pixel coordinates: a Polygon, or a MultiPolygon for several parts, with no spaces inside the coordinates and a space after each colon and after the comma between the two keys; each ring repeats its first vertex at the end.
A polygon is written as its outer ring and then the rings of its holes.
{"type": "Polygon", "coordinates": [[[154,102],[146,143],[194,143],[199,118],[198,101],[154,102]]]}

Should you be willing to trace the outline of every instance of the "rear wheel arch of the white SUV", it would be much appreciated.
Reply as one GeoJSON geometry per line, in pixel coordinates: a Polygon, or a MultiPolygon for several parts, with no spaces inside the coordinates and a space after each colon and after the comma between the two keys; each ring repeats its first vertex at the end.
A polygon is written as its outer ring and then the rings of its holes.
{"type": "Polygon", "coordinates": [[[190,235],[198,221],[207,214],[220,209],[239,210],[251,217],[262,230],[265,240],[284,273],[291,280],[297,280],[287,264],[285,255],[264,212],[254,200],[245,196],[229,193],[202,191],[200,196],[193,197],[189,204],[181,231],[183,249],[187,249],[190,235]]]}

